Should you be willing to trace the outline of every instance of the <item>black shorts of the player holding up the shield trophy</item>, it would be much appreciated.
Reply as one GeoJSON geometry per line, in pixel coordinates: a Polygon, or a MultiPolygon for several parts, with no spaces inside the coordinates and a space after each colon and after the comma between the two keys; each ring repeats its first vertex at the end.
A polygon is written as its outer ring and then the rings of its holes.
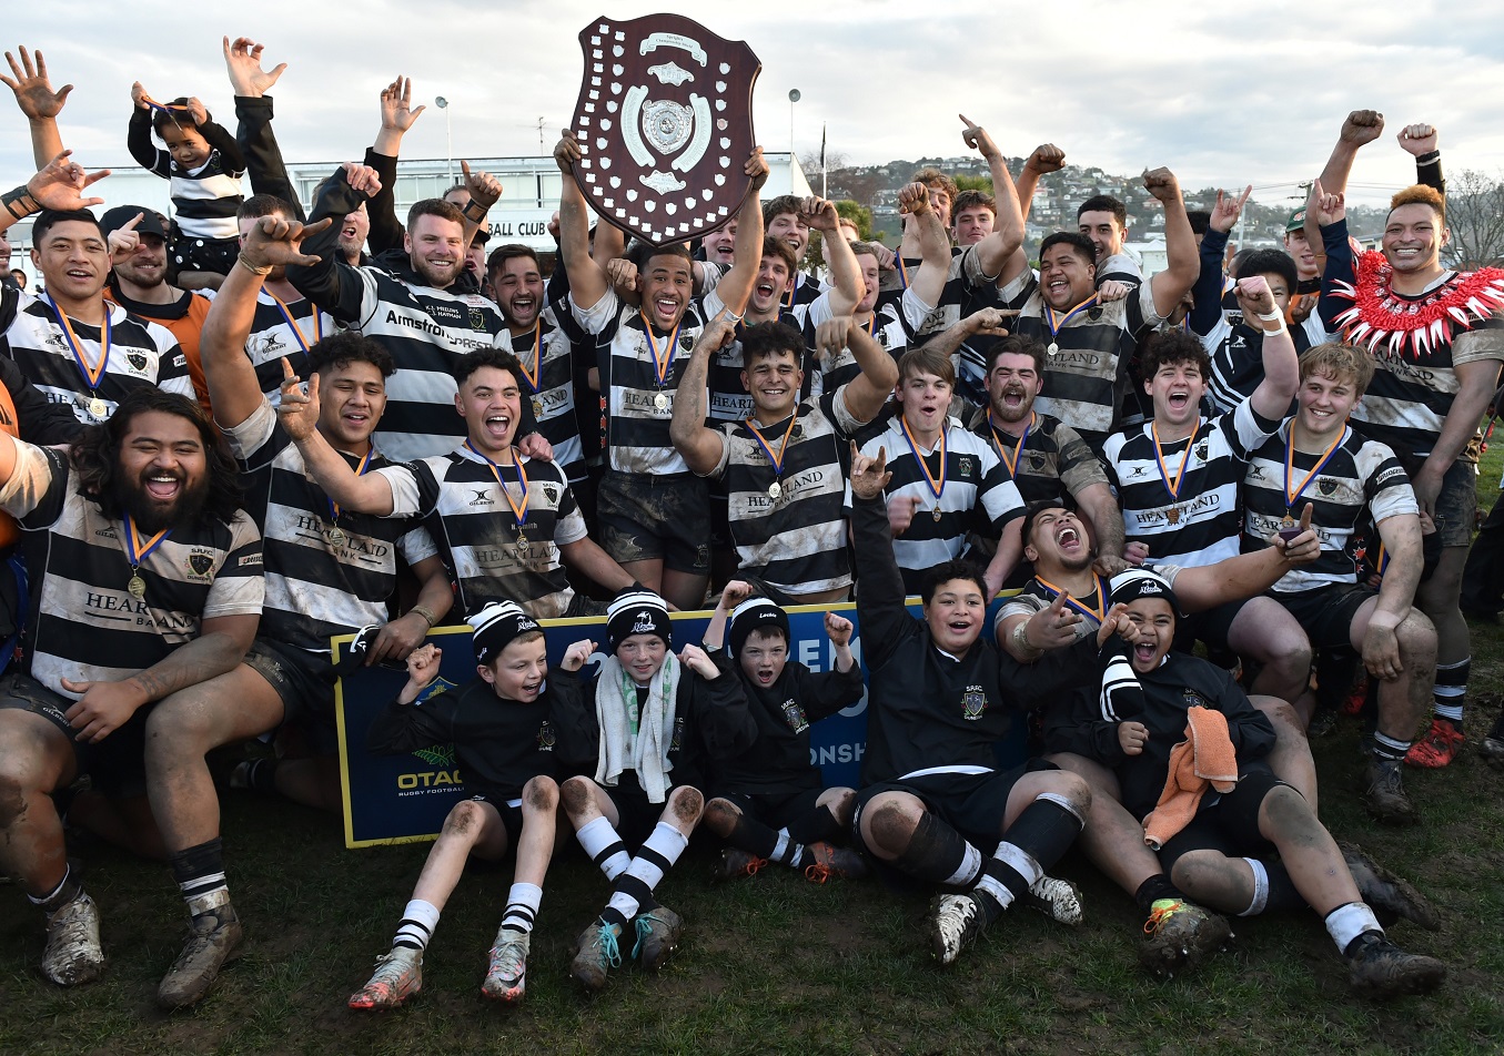
{"type": "Polygon", "coordinates": [[[662,560],[710,575],[710,490],[693,473],[606,470],[597,493],[600,542],[618,565],[662,560]]]}

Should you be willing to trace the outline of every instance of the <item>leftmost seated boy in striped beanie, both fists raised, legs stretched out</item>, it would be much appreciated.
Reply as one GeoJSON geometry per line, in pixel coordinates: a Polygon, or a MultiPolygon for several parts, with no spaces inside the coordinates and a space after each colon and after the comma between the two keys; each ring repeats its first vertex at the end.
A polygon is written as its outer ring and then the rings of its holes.
{"type": "Polygon", "coordinates": [[[474,795],[444,819],[391,951],[378,958],[376,973],[350,997],[350,1008],[397,1008],[415,996],[423,987],[423,951],[465,859],[498,861],[511,847],[517,849],[517,867],[480,991],[508,1003],[522,1000],[528,939],[553,853],[559,798],[553,783],[555,711],[561,701],[579,701],[575,671],[596,643],[576,641],[549,671],[543,631],[514,602],[486,605],[469,625],[475,677],[456,692],[420,700],[439,673],[442,650],[418,646],[408,656],[408,685],[376,717],[365,739],[367,751],[381,756],[453,744],[465,787],[474,795]]]}

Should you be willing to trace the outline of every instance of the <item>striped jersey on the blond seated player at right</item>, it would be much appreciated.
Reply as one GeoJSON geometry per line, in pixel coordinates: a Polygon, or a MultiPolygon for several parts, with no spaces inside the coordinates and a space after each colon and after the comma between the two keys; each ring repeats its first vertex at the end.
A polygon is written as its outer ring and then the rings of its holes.
{"type": "Polygon", "coordinates": [[[1299,520],[1301,511],[1310,503],[1311,527],[1321,538],[1321,557],[1310,565],[1292,568],[1274,584],[1274,590],[1295,593],[1333,583],[1357,583],[1354,535],[1369,524],[1370,515],[1372,523],[1379,524],[1399,514],[1420,512],[1409,475],[1387,445],[1370,440],[1351,427],[1343,430],[1342,443],[1325,464],[1321,464],[1321,454],[1287,452],[1290,428],[1292,422],[1287,419],[1278,434],[1265,440],[1248,458],[1242,478],[1242,548],[1262,550],[1265,539],[1280,530],[1286,517],[1299,520]],[[1289,473],[1287,454],[1293,461],[1293,472],[1289,473]],[[1310,479],[1318,466],[1321,470],[1310,479]],[[1293,506],[1287,490],[1299,490],[1293,506]]]}

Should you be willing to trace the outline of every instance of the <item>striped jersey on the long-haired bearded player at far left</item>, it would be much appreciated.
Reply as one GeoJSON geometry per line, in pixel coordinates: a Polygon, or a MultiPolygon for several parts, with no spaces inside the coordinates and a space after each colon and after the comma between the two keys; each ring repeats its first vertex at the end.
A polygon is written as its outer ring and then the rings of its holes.
{"type": "Polygon", "coordinates": [[[203,620],[262,611],[262,538],[244,511],[174,529],[138,568],[132,596],[125,526],[78,494],[62,448],[15,442],[0,508],[23,529],[32,598],[26,656],[53,692],[62,679],[119,682],[199,637],[203,620]]]}

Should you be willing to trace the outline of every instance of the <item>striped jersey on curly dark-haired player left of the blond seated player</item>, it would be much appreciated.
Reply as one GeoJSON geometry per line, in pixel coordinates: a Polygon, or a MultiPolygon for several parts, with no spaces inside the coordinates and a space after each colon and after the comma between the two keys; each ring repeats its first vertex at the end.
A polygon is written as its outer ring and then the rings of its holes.
{"type": "Polygon", "coordinates": [[[1244,400],[1226,415],[1197,419],[1194,436],[1158,451],[1154,422],[1114,433],[1102,461],[1117,490],[1126,541],[1149,547],[1155,560],[1187,568],[1236,554],[1244,466],[1278,428],[1278,419],[1260,416],[1244,400]]]}

